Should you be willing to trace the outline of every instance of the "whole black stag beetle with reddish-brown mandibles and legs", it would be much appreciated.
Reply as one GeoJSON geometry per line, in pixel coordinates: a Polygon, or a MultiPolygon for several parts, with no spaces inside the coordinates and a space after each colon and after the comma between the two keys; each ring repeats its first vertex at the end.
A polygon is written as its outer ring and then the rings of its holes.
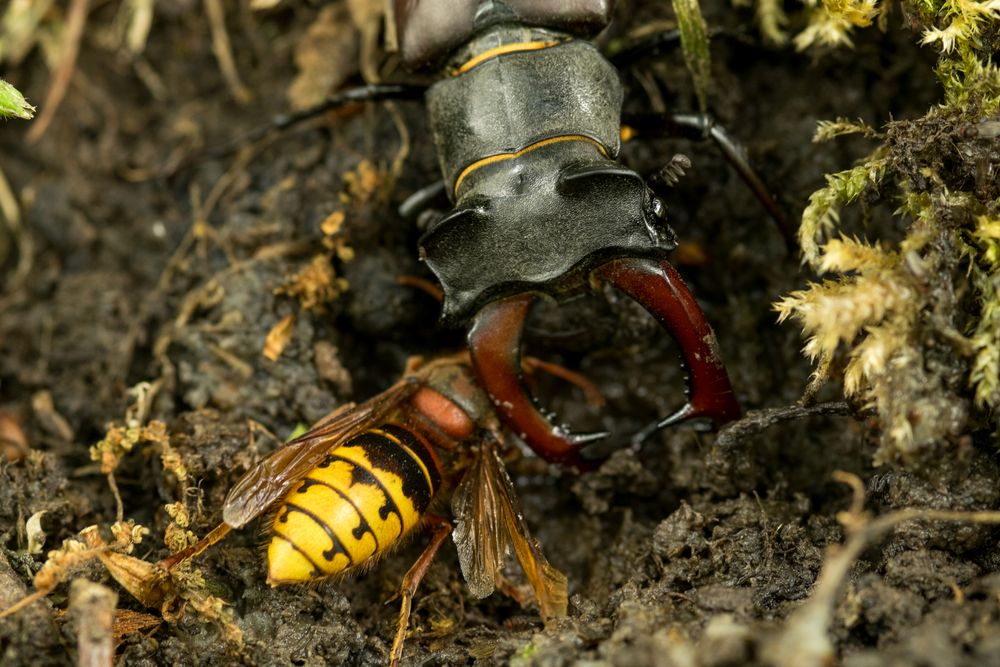
{"type": "MultiPolygon", "coordinates": [[[[677,341],[687,403],[645,433],[695,417],[721,425],[740,415],[712,328],[667,260],[677,242],[655,180],[617,161],[623,86],[614,64],[587,41],[608,25],[614,4],[395,0],[403,64],[435,71],[438,80],[426,88],[346,90],[272,126],[351,102],[424,98],[443,181],[411,200],[443,188],[452,205],[419,241],[443,287],[442,320],[469,326],[472,364],[504,424],[544,459],[581,469],[593,465],[583,445],[607,434],[552,423],[521,375],[525,320],[540,295],[561,301],[607,282],[677,341]]],[[[641,50],[616,62],[634,61],[641,50]]],[[[789,238],[767,189],[720,126],[699,114],[653,120],[714,140],[789,238]]]]}

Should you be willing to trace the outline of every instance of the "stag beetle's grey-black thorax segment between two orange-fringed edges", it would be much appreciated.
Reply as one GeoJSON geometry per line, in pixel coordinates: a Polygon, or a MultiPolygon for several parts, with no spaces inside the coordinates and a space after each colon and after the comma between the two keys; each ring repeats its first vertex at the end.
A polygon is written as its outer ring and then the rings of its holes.
{"type": "Polygon", "coordinates": [[[620,146],[622,86],[590,43],[500,25],[458,51],[450,75],[430,88],[427,110],[449,193],[483,160],[557,137],[593,142],[614,158],[620,146]]]}

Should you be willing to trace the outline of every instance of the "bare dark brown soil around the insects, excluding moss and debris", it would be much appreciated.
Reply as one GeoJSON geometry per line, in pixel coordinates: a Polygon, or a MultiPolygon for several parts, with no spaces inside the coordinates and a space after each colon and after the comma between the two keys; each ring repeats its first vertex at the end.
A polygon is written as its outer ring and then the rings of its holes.
{"type": "MultiPolygon", "coordinates": [[[[30,273],[14,284],[12,257],[0,293],[0,410],[21,425],[31,450],[19,462],[0,457],[0,608],[31,590],[44,562],[25,552],[28,517],[46,511],[46,550],[85,526],[114,522],[114,495],[88,448],[109,423],[124,421],[135,402],[130,387],[155,383],[148,417],[167,424],[192,480],[183,495],[153,445],[127,455],[116,472],[125,517],[151,529],[135,555],[152,562],[169,555],[165,504],[186,501],[192,530],[206,533],[230,485],[275,446],[251,424],[284,438],[344,401],[385,389],[409,356],[452,352],[462,342],[461,332],[436,327],[432,298],[397,282],[431,277],[416,257],[419,229],[396,213],[437,178],[418,103],[395,105],[411,145],[394,183],[381,172],[385,196],[366,198],[347,184],[363,161],[384,167],[399,150],[385,105],[342,110],[252,154],[205,157],[287,109],[294,52],[321,8],[294,2],[250,13],[224,3],[237,69],[253,94],[241,105],[220,73],[200,3],[157,3],[145,51],[132,60],[106,48],[98,29],[112,24],[117,5],[92,4],[74,78],[42,140],[25,141],[30,124],[0,131],[0,167],[34,246],[30,273]],[[345,200],[347,191],[354,194],[345,200]],[[346,213],[354,258],[334,264],[349,289],[306,310],[277,290],[323,252],[320,225],[337,210],[346,213]],[[292,337],[269,361],[265,338],[290,314],[292,337]]],[[[609,37],[669,18],[669,3],[620,4],[609,37]]],[[[344,51],[356,30],[346,11],[333,16],[339,32],[327,46],[344,51]]],[[[713,42],[712,109],[797,219],[823,174],[869,149],[861,139],[814,146],[816,121],[844,116],[880,126],[923,115],[938,96],[933,58],[898,27],[898,13],[887,34],[861,33],[853,51],[820,58],[762,46],[741,32],[751,18],[726,5],[707,10],[710,25],[740,35],[713,42]]],[[[356,52],[331,60],[333,80],[361,82],[356,52]]],[[[36,103],[51,80],[37,51],[3,75],[36,103]]],[[[626,110],[655,108],[661,100],[650,98],[648,84],[657,81],[673,108],[695,108],[679,53],[624,78],[626,110]]],[[[669,202],[684,244],[679,269],[715,325],[744,407],[794,403],[812,369],[798,332],[777,326],[771,303],[808,278],[797,256],[710,145],[639,140],[624,152],[643,171],[677,152],[692,159],[669,202]]],[[[870,233],[893,233],[887,221],[867,224],[870,233]]],[[[528,345],[582,370],[608,398],[597,411],[551,382],[540,391],[561,418],[626,433],[683,400],[683,371],[655,327],[607,296],[564,317],[541,314],[528,345]]],[[[835,389],[821,398],[836,399],[835,389]]],[[[684,425],[582,476],[531,458],[515,462],[528,521],[569,578],[570,617],[544,629],[534,609],[501,594],[474,600],[448,547],[418,593],[404,663],[761,664],[763,643],[808,598],[827,547],[844,538],[835,516],[850,491],[833,471],[869,480],[873,511],[1000,504],[992,450],[970,441],[933,470],[875,470],[875,428],[850,415],[811,417],[721,448],[715,434],[684,425]]],[[[122,638],[118,660],[381,664],[396,621],[395,605],[385,602],[423,542],[363,576],[270,589],[259,532],[234,533],[197,566],[208,590],[232,605],[242,648],[187,609],[122,638]]],[[[993,530],[954,523],[904,524],[872,545],[851,570],[830,628],[842,663],[1000,664],[996,547],[993,530]]],[[[120,590],[97,561],[77,575],[120,590]]],[[[63,584],[0,620],[0,662],[74,664],[76,629],[60,613],[67,595],[63,584]]],[[[124,591],[119,608],[156,613],[124,591]]]]}

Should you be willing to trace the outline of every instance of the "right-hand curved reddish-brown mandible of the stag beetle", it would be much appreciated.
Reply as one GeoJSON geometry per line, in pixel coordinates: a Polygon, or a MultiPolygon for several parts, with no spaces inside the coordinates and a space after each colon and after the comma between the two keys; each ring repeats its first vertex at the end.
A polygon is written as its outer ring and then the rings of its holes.
{"type": "Polygon", "coordinates": [[[638,301],[681,349],[689,376],[688,402],[657,422],[657,429],[696,417],[707,417],[718,426],[740,416],[715,333],[670,262],[616,259],[598,268],[594,275],[638,301]]]}

